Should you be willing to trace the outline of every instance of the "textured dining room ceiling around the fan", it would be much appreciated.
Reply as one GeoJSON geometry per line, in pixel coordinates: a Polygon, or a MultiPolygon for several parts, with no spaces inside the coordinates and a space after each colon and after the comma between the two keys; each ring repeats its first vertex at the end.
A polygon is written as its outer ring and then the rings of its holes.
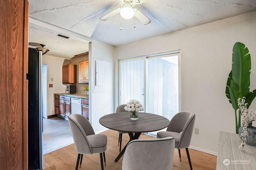
{"type": "Polygon", "coordinates": [[[120,14],[100,17],[116,8],[117,0],[29,0],[30,16],[110,44],[121,45],[256,10],[256,0],[148,0],[136,5],[152,22],[143,25],[120,14]]]}

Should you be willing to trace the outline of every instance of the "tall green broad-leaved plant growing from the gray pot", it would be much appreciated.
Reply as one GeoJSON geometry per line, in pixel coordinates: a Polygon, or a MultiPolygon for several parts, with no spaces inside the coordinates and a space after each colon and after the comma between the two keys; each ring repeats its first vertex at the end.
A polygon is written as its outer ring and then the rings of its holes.
{"type": "Polygon", "coordinates": [[[228,75],[226,96],[235,112],[236,133],[241,126],[241,111],[237,115],[238,98],[245,97],[248,109],[256,96],[256,90],[250,92],[251,56],[243,43],[236,42],[232,53],[232,70],[228,75]]]}

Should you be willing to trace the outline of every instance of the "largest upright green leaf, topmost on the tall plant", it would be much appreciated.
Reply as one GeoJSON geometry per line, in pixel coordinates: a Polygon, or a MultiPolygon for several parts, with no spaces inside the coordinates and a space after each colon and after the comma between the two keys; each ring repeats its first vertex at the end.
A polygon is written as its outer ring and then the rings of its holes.
{"type": "MultiPolygon", "coordinates": [[[[248,48],[243,43],[235,43],[232,55],[232,80],[230,87],[236,88],[247,96],[250,87],[251,56],[248,48]]],[[[237,101],[236,101],[237,103],[237,101]]]]}

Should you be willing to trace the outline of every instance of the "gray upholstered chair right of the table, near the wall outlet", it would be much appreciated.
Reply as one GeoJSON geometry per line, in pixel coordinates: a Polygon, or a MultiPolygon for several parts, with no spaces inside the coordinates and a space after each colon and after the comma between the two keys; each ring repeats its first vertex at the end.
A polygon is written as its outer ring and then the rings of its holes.
{"type": "MultiPolygon", "coordinates": [[[[188,162],[191,170],[192,170],[192,165],[190,161],[188,147],[190,145],[195,119],[196,119],[196,115],[194,113],[190,111],[182,111],[174,115],[166,131],[157,133],[157,138],[165,138],[165,137],[174,138],[175,148],[178,149],[179,156],[180,156],[180,149],[186,148],[188,162]]],[[[181,156],[180,156],[180,161],[181,161],[181,156]]]]}

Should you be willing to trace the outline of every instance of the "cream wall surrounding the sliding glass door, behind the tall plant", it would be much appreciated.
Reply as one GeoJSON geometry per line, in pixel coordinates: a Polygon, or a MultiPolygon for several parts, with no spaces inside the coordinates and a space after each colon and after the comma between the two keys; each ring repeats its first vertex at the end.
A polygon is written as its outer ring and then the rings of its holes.
{"type": "MultiPolygon", "coordinates": [[[[118,89],[117,59],[180,49],[182,111],[196,114],[194,127],[199,129],[198,135],[192,135],[191,146],[216,154],[219,131],[235,133],[234,110],[225,96],[225,88],[232,48],[237,41],[248,47],[252,57],[252,91],[256,88],[256,12],[116,47],[115,89],[118,89]]],[[[118,90],[115,90],[117,105],[118,90]]],[[[254,106],[250,108],[256,110],[254,106]]]]}

